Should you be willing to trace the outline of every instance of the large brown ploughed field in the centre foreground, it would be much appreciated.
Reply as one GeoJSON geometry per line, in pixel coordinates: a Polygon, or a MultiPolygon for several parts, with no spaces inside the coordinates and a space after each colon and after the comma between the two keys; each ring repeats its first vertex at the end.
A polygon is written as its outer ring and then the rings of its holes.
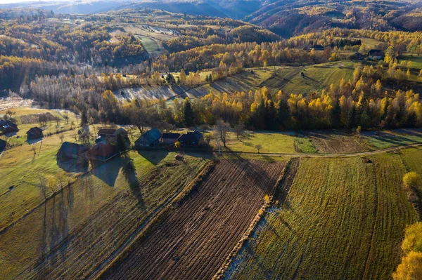
{"type": "Polygon", "coordinates": [[[257,215],[283,162],[222,160],[131,248],[109,279],[211,279],[257,215]]]}

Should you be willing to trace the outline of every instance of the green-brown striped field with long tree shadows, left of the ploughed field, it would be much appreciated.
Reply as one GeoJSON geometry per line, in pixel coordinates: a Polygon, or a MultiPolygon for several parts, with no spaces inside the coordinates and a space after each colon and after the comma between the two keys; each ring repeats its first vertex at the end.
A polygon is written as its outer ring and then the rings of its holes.
{"type": "MultiPolygon", "coordinates": [[[[114,161],[114,159],[113,159],[114,161]]],[[[121,166],[127,166],[130,159],[121,166]]],[[[0,234],[2,279],[85,279],[107,265],[207,163],[163,161],[149,172],[123,167],[79,178],[0,234]],[[139,175],[138,175],[139,174],[139,175]],[[18,240],[16,240],[16,236],[18,240]]],[[[106,171],[107,170],[107,171],[106,171]]]]}

